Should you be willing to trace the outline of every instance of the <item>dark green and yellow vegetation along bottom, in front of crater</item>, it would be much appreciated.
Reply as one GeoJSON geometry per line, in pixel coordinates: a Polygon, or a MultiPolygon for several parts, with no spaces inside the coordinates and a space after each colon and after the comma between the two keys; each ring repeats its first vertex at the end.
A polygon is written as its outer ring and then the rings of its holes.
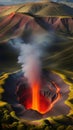
{"type": "Polygon", "coordinates": [[[73,130],[73,116],[61,116],[45,119],[41,125],[28,123],[28,121],[19,120],[14,111],[8,107],[0,107],[0,129],[2,130],[73,130]]]}

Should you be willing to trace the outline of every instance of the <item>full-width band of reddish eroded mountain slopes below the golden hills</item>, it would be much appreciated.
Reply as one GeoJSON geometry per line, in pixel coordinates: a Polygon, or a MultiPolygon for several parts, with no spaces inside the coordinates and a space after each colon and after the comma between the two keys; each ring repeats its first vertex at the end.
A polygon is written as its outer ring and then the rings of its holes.
{"type": "MultiPolygon", "coordinates": [[[[60,17],[31,17],[20,13],[11,13],[0,21],[0,42],[22,36],[48,31],[51,25],[55,31],[73,33],[73,18],[60,17]],[[42,25],[43,23],[43,25],[42,25]],[[50,26],[49,26],[50,27],[50,26]]],[[[49,29],[50,30],[50,29],[49,29]]]]}

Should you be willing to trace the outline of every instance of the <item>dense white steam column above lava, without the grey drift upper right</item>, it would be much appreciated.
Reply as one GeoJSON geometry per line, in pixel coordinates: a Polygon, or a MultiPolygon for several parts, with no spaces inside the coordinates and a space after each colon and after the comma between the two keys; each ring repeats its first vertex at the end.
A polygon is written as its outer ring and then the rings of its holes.
{"type": "Polygon", "coordinates": [[[34,45],[24,44],[21,46],[21,53],[18,58],[19,63],[22,64],[24,76],[31,86],[41,77],[41,61],[38,53],[38,49],[34,45]]]}

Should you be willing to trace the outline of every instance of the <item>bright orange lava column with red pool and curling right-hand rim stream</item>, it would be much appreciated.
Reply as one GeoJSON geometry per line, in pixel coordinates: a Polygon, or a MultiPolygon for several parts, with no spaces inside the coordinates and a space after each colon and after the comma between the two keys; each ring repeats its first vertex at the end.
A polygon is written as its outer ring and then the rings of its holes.
{"type": "Polygon", "coordinates": [[[46,112],[50,111],[53,108],[54,104],[60,99],[61,95],[60,95],[60,87],[55,82],[51,82],[51,83],[56,88],[57,98],[53,102],[51,102],[49,98],[40,94],[40,86],[38,83],[35,83],[31,87],[32,104],[29,101],[28,102],[29,105],[27,109],[31,108],[33,110],[40,112],[41,114],[45,114],[46,112]]]}

